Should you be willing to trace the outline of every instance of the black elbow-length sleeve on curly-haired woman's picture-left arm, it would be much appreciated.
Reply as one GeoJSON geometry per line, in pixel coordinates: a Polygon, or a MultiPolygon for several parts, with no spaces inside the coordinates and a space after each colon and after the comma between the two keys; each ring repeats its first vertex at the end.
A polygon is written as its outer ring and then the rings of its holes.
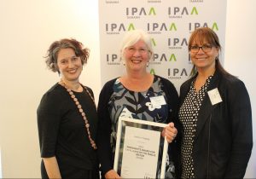
{"type": "Polygon", "coordinates": [[[38,135],[42,158],[55,156],[55,146],[61,123],[58,94],[47,92],[38,106],[38,135]]]}

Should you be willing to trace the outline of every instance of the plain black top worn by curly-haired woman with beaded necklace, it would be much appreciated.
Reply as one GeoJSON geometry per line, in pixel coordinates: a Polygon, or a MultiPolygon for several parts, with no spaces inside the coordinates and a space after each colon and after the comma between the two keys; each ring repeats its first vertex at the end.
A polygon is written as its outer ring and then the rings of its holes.
{"type": "MultiPolygon", "coordinates": [[[[93,95],[92,90],[87,89],[93,95]]],[[[94,102],[85,90],[73,93],[89,120],[90,134],[95,140],[98,119],[94,102]]],[[[38,134],[41,157],[55,156],[62,177],[65,177],[63,171],[68,167],[97,169],[96,150],[90,145],[84,119],[67,90],[60,84],[55,84],[42,97],[38,107],[38,134]]]]}

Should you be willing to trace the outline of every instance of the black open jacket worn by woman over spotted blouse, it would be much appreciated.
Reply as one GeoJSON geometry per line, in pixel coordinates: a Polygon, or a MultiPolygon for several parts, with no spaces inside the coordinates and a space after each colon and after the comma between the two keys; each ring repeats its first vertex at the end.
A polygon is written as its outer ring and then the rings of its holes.
{"type": "MultiPolygon", "coordinates": [[[[181,104],[194,79],[182,84],[181,104]]],[[[195,178],[242,178],[253,147],[249,95],[240,79],[218,70],[207,91],[216,88],[222,102],[212,105],[206,95],[197,119],[192,152],[195,178]]]]}

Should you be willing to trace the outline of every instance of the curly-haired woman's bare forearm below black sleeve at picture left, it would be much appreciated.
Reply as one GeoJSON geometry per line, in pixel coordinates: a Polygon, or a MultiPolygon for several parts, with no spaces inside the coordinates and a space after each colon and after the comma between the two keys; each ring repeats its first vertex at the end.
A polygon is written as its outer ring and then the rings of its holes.
{"type": "Polygon", "coordinates": [[[61,172],[55,157],[43,158],[43,161],[49,178],[61,178],[61,172]]]}

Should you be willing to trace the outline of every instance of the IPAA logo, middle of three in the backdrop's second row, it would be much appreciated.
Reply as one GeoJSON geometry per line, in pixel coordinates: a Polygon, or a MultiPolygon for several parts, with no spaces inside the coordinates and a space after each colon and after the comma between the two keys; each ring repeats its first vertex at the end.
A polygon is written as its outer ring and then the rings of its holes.
{"type": "Polygon", "coordinates": [[[149,34],[160,34],[161,32],[177,31],[177,26],[174,22],[171,23],[147,23],[147,31],[149,34]]]}

